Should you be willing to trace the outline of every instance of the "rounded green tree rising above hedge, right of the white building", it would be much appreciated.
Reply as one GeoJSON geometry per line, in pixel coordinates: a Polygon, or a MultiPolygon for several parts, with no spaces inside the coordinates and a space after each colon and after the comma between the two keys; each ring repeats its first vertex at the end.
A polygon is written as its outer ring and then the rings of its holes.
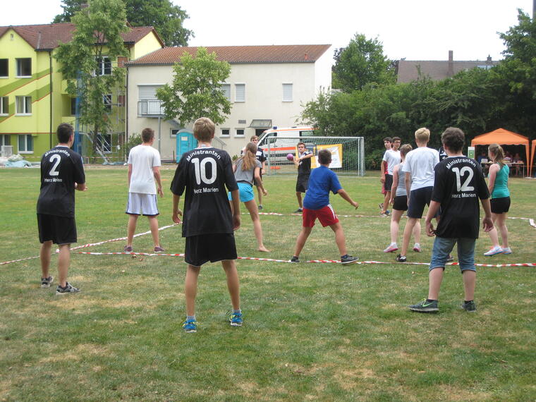
{"type": "Polygon", "coordinates": [[[393,62],[384,56],[384,47],[378,38],[367,39],[355,34],[347,47],[334,53],[333,86],[344,92],[360,90],[367,84],[395,82],[393,62]]]}

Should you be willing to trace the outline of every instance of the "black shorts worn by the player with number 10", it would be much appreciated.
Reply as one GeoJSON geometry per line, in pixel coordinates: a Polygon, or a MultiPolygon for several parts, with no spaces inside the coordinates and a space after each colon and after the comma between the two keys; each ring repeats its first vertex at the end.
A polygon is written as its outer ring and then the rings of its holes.
{"type": "Polygon", "coordinates": [[[194,267],[205,262],[236,260],[236,243],[233,233],[214,233],[186,238],[184,261],[194,267]]]}

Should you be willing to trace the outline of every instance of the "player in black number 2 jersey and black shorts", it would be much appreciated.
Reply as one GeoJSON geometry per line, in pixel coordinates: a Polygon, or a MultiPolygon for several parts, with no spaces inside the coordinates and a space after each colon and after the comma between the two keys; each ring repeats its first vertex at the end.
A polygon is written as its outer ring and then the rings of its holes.
{"type": "Polygon", "coordinates": [[[57,130],[59,144],[41,158],[41,192],[37,200],[37,226],[41,250],[41,287],[49,288],[52,243],[59,246],[57,295],[77,293],[80,289],[67,281],[71,260],[71,243],[76,243],[75,190],[85,191],[82,157],[71,150],[74,134],[71,124],[62,123],[57,130]]]}

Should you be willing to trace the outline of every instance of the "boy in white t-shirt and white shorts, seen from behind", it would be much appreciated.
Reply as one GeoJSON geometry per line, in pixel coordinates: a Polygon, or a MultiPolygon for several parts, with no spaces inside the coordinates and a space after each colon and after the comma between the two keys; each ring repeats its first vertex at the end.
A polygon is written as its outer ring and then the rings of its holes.
{"type": "Polygon", "coordinates": [[[141,214],[149,218],[154,251],[162,252],[158,236],[158,205],[157,194],[164,197],[160,180],[160,154],[152,147],[154,130],[144,128],[142,144],[136,145],[128,154],[128,214],[127,240],[125,252],[132,252],[132,240],[136,230],[136,222],[141,214]],[[156,181],[156,183],[155,183],[156,181]],[[157,187],[158,185],[158,187],[157,187]]]}

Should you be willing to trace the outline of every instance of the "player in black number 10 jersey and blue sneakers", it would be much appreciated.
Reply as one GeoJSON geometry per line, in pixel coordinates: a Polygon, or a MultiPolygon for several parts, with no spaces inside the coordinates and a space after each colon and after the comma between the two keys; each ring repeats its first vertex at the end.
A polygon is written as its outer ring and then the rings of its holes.
{"type": "Polygon", "coordinates": [[[221,261],[233,305],[229,321],[234,327],[242,325],[234,239],[234,230],[240,227],[240,198],[231,157],[224,150],[212,147],[215,129],[209,118],[195,121],[193,133],[197,138],[197,148],[183,154],[171,183],[172,219],[180,223],[179,215],[183,217],[183,237],[186,238],[184,253],[188,268],[185,279],[186,320],[183,324],[186,332],[197,331],[197,276],[202,264],[208,261],[221,261]],[[233,213],[226,188],[231,191],[233,213]],[[178,202],[183,193],[184,212],[181,212],[178,202]]]}

